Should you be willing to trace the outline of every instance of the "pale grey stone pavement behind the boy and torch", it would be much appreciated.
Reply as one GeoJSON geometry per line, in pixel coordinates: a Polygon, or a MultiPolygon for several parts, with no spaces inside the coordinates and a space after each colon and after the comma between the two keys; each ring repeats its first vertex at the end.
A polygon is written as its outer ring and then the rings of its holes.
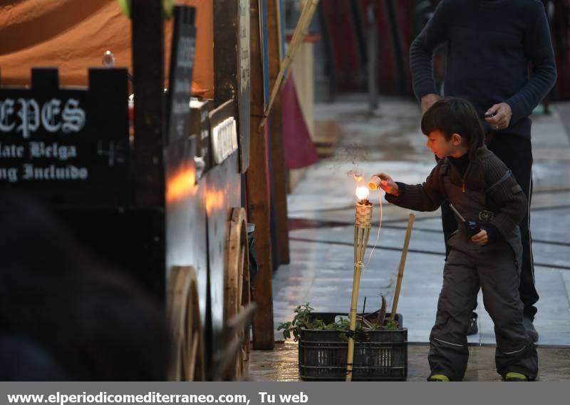
{"type": "MultiPolygon", "coordinates": [[[[534,197],[532,235],[537,289],[541,296],[535,325],[539,347],[570,347],[570,124],[569,104],[553,106],[551,116],[533,116],[534,197]]],[[[410,99],[381,98],[368,113],[366,96],[317,104],[316,119],[336,120],[342,136],[331,158],[309,168],[289,195],[291,263],[274,275],[274,322],[291,320],[298,304],[318,312],[347,314],[353,282],[355,183],[349,170],[368,179],[383,171],[395,180],[421,183],[434,165],[420,132],[420,110],[410,99]]],[[[383,193],[382,193],[383,194],[383,193]]],[[[382,198],[383,200],[383,198],[382,198]]],[[[380,294],[391,307],[409,211],[371,195],[375,223],[361,278],[359,311],[378,309],[380,294]],[[373,249],[373,247],[375,247],[373,249]]],[[[417,212],[398,312],[409,342],[428,342],[442,282],[444,244],[440,213],[417,212]]],[[[479,299],[480,333],[472,345],[494,344],[492,322],[479,299]]],[[[276,339],[283,339],[275,332],[276,339]]]]}

